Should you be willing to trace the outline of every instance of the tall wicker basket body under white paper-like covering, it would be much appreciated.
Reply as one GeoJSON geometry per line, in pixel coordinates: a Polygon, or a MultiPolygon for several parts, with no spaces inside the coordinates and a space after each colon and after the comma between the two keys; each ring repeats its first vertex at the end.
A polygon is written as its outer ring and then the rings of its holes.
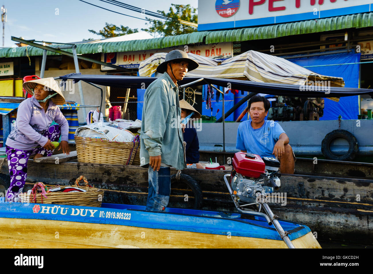
{"type": "Polygon", "coordinates": [[[139,140],[138,136],[132,142],[112,142],[104,138],[75,136],[78,162],[130,165],[135,154],[140,154],[139,140]]]}

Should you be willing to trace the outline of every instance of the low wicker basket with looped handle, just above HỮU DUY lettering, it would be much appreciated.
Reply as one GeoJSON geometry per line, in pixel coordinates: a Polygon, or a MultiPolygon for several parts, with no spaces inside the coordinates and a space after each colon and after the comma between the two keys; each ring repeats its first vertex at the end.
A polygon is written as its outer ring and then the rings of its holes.
{"type": "Polygon", "coordinates": [[[88,185],[87,178],[80,176],[75,180],[73,187],[86,190],[86,192],[54,192],[53,189],[71,188],[71,186],[56,186],[47,188],[43,183],[35,183],[31,193],[21,193],[19,195],[22,203],[35,204],[58,204],[58,205],[79,205],[85,207],[101,207],[102,199],[104,198],[104,190],[91,187],[88,185]],[[79,186],[79,182],[84,180],[85,186],[79,186]],[[40,189],[38,189],[40,188],[40,189]],[[38,190],[41,190],[39,192],[38,190]]]}

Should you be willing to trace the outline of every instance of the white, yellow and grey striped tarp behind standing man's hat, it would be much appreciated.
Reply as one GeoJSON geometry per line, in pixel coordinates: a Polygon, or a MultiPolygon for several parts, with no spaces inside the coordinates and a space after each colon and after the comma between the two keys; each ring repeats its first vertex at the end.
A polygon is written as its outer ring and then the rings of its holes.
{"type": "MultiPolygon", "coordinates": [[[[321,75],[281,57],[254,50],[249,50],[222,62],[192,53],[188,53],[188,56],[200,64],[197,69],[186,73],[186,76],[190,77],[248,79],[254,82],[293,85],[326,84],[336,87],[343,87],[345,85],[341,77],[321,75]]],[[[156,72],[157,66],[164,62],[165,57],[166,53],[156,53],[141,62],[139,75],[151,76],[156,72]]]]}

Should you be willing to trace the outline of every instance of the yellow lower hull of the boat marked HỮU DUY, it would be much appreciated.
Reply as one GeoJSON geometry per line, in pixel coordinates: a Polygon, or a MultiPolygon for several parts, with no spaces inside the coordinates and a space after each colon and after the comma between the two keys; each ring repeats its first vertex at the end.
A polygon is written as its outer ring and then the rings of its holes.
{"type": "MultiPolygon", "coordinates": [[[[2,248],[287,248],[281,240],[115,224],[0,218],[2,248]]],[[[311,232],[295,248],[321,248],[311,232]]]]}

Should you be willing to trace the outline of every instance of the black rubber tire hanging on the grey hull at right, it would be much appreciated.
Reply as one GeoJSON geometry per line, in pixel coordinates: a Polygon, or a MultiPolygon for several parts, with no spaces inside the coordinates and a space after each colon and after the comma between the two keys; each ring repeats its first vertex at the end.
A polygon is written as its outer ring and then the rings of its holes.
{"type": "Polygon", "coordinates": [[[359,150],[359,146],[357,144],[357,140],[354,135],[352,135],[351,132],[348,132],[347,130],[343,129],[336,129],[332,132],[329,132],[327,135],[325,135],[325,138],[323,139],[321,143],[321,152],[325,156],[325,158],[330,160],[338,160],[338,161],[345,161],[345,160],[353,160],[356,156],[356,153],[359,150]],[[335,155],[330,151],[330,143],[335,138],[343,138],[347,140],[349,144],[349,148],[347,153],[344,155],[335,155]]]}

